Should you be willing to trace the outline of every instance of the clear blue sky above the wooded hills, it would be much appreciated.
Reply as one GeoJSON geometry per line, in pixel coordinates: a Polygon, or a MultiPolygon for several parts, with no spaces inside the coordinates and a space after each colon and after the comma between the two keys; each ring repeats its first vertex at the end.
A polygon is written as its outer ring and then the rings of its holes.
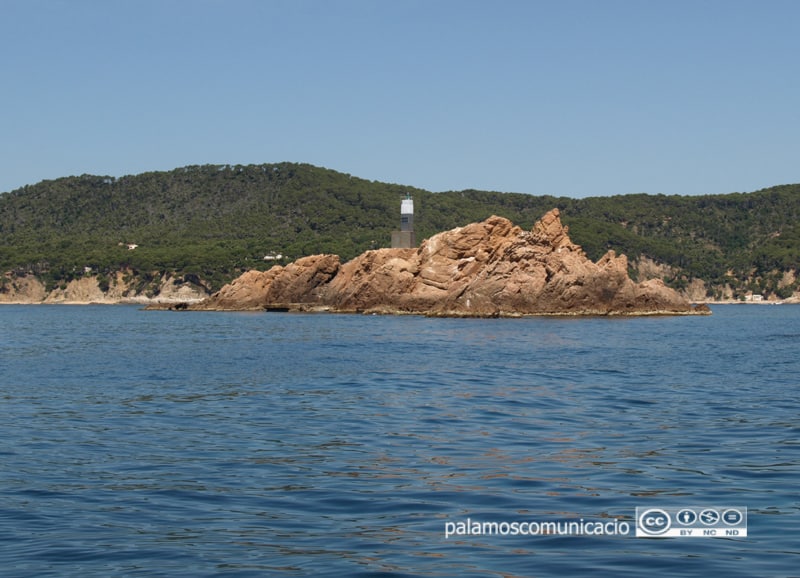
{"type": "Polygon", "coordinates": [[[307,162],[572,197],[800,182],[793,0],[2,0],[0,191],[307,162]]]}

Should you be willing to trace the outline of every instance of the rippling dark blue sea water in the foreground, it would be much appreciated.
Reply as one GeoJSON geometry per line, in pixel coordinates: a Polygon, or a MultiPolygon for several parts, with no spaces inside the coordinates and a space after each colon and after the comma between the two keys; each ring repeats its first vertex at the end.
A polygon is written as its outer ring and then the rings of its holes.
{"type": "Polygon", "coordinates": [[[798,576],[800,307],[0,307],[0,575],[798,576]],[[748,508],[642,539],[635,508],[748,508]],[[445,536],[616,519],[616,536],[445,536]]]}

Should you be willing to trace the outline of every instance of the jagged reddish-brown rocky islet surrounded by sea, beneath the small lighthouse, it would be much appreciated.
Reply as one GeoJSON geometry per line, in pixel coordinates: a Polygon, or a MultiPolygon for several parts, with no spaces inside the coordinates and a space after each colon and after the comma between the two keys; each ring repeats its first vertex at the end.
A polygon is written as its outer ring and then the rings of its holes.
{"type": "Polygon", "coordinates": [[[708,312],[659,280],[634,283],[627,269],[627,258],[613,251],[590,261],[553,209],[531,231],[493,216],[418,249],[367,251],[344,264],[314,255],[251,271],[189,308],[478,317],[708,312]]]}

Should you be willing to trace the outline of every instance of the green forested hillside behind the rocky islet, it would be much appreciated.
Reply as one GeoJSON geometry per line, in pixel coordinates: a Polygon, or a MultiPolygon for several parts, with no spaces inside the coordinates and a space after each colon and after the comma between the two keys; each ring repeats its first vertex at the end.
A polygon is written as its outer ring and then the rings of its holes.
{"type": "MultiPolygon", "coordinates": [[[[800,185],[706,196],[571,199],[486,191],[431,193],[307,164],[203,165],[113,178],[83,175],[0,195],[0,271],[57,284],[92,273],[174,272],[219,287],[240,272],[314,253],[343,260],[389,246],[400,199],[417,238],[496,214],[530,228],[558,207],[592,259],[647,257],[678,288],[701,279],[787,297],[797,289],[800,185]],[[128,244],[136,244],[134,250],[128,244]]],[[[636,274],[636,271],[632,271],[636,274]]]]}

